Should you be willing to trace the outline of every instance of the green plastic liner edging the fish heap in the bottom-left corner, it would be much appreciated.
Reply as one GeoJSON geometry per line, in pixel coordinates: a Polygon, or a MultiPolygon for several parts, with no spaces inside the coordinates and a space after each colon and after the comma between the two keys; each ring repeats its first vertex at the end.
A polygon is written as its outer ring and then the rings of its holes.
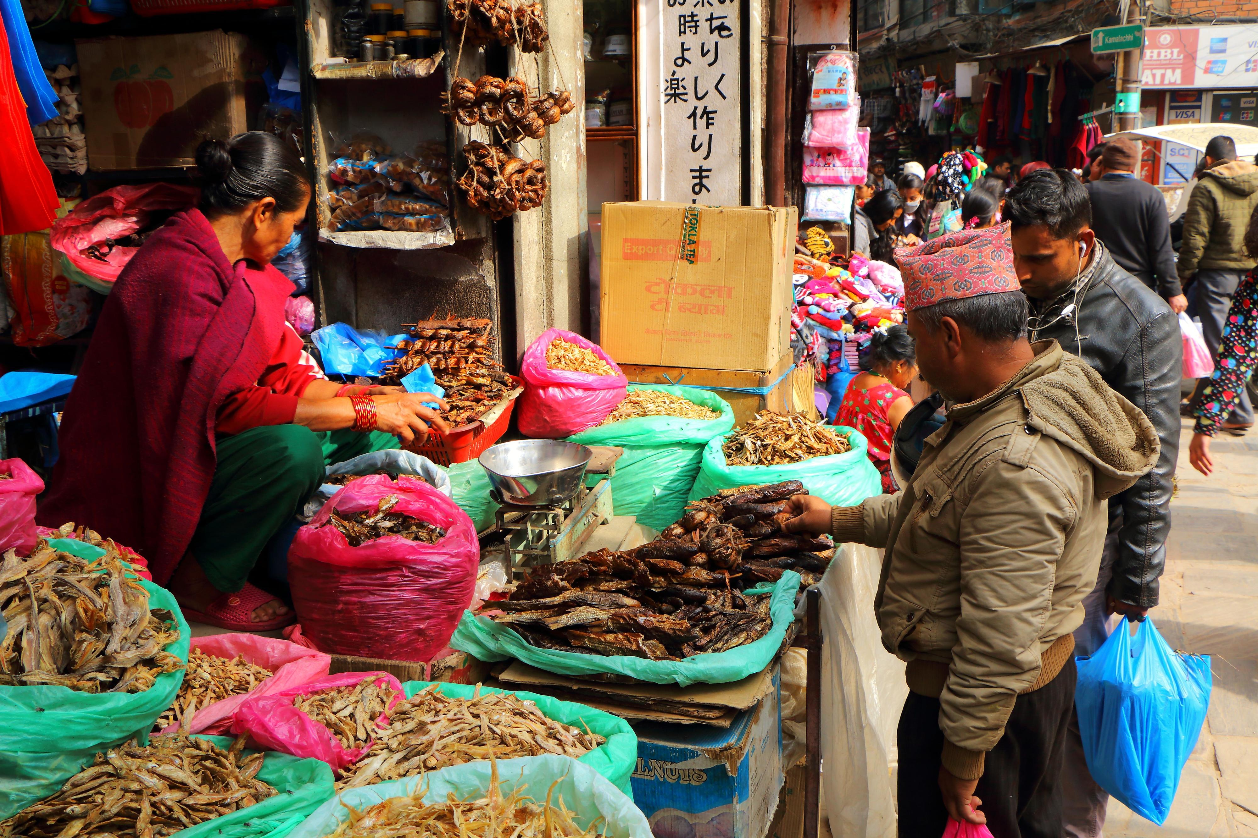
{"type": "MultiPolygon", "coordinates": [[[[223,749],[230,747],[233,741],[231,736],[198,735],[196,739],[209,740],[223,749]]],[[[332,766],[311,757],[268,751],[258,779],[273,785],[279,794],[181,829],[177,833],[180,838],[283,838],[336,794],[332,766]]]]}

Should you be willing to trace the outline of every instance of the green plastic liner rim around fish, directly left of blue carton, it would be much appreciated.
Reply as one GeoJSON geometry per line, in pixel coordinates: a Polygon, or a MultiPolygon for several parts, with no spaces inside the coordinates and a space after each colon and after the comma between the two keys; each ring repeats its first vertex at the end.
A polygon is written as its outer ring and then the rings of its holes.
{"type": "MultiPolygon", "coordinates": [[[[408,681],[401,688],[406,692],[406,697],[410,698],[420,690],[433,686],[433,683],[437,683],[443,696],[449,696],[450,698],[470,698],[477,691],[477,684],[438,683],[433,681],[408,681]]],[[[541,696],[536,692],[494,690],[493,687],[479,687],[479,690],[482,693],[511,692],[521,701],[531,701],[537,705],[537,710],[542,711],[542,715],[547,718],[554,718],[561,725],[589,730],[591,734],[603,736],[608,741],[589,754],[581,755],[576,761],[589,765],[611,780],[611,784],[624,791],[630,800],[633,799],[629,775],[633,774],[634,765],[638,761],[638,735],[633,732],[633,727],[624,718],[595,710],[594,707],[586,707],[571,701],[560,701],[559,698],[541,696]]]]}

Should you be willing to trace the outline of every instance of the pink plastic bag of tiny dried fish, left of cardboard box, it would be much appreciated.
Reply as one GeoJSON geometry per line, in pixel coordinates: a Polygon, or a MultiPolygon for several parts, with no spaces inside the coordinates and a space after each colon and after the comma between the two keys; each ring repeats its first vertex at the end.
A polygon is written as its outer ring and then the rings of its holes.
{"type": "Polygon", "coordinates": [[[562,439],[593,428],[624,401],[629,386],[629,379],[601,346],[562,328],[548,328],[528,345],[520,361],[520,375],[525,379],[525,393],[516,409],[520,433],[535,439],[562,439]],[[546,366],[546,347],[559,338],[590,350],[616,374],[590,375],[550,369],[546,366]]]}

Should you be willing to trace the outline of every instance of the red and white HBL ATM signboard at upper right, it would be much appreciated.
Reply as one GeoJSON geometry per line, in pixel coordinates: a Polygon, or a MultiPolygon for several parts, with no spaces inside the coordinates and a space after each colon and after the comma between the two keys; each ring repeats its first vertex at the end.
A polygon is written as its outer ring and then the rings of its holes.
{"type": "Polygon", "coordinates": [[[1146,89],[1258,87],[1258,24],[1147,29],[1140,77],[1146,89]]]}

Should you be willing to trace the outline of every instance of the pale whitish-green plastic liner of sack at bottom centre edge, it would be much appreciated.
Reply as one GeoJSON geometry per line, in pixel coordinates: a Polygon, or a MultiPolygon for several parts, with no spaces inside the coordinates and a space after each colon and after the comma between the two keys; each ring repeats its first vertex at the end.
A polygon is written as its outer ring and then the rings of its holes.
{"type": "MultiPolygon", "coordinates": [[[[554,754],[520,756],[513,760],[498,760],[497,766],[498,788],[503,794],[509,794],[523,785],[527,786],[528,796],[545,802],[551,785],[557,780],[551,805],[557,807],[562,795],[564,808],[572,813],[572,819],[582,828],[589,828],[601,818],[600,832],[608,838],[653,838],[650,824],[633,800],[605,776],[571,756],[554,754]]],[[[331,835],[348,815],[347,807],[364,812],[389,798],[423,793],[425,803],[444,802],[448,794],[453,794],[458,800],[477,800],[486,796],[489,789],[489,771],[491,764],[487,760],[477,760],[429,771],[421,776],[346,789],[316,809],[314,814],[289,833],[288,838],[331,835]]]]}

